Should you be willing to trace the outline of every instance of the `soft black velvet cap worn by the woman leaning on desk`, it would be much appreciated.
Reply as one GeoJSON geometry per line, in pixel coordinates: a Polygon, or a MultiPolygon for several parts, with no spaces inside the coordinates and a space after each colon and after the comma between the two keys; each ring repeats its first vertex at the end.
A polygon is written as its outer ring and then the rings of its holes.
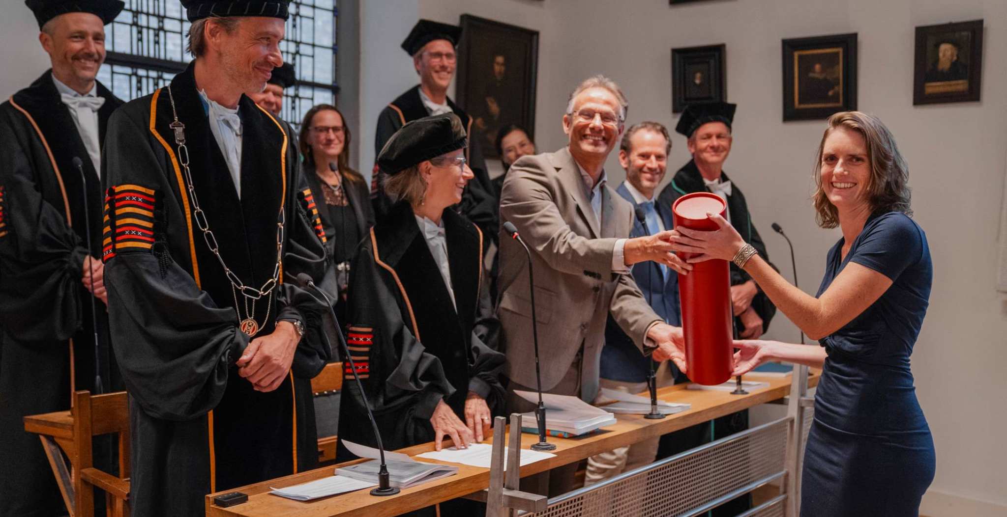
{"type": "Polygon", "coordinates": [[[461,119],[453,113],[410,122],[392,135],[378,155],[378,166],[390,175],[468,145],[461,119]]]}

